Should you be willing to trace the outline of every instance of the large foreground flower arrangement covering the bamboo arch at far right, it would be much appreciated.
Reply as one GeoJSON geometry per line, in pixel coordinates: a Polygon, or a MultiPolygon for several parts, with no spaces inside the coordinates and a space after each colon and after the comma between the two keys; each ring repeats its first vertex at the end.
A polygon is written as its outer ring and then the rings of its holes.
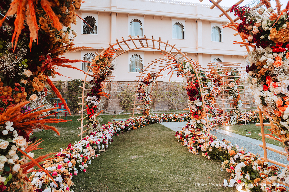
{"type": "Polygon", "coordinates": [[[281,10],[280,3],[276,4],[276,9],[271,7],[267,0],[262,3],[266,10],[260,8],[255,12],[248,7],[235,5],[231,12],[240,16],[242,23],[238,25],[238,32],[253,47],[246,57],[246,71],[250,76],[249,87],[253,89],[255,103],[272,117],[277,125],[270,130],[275,135],[280,135],[283,144],[286,145],[289,141],[289,4],[281,10]]]}

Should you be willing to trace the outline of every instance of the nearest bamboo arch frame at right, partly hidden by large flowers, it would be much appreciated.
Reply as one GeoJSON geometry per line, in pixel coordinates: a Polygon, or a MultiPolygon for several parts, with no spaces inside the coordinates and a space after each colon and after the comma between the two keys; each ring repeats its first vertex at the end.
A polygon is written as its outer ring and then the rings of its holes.
{"type": "MultiPolygon", "coordinates": [[[[199,1],[202,2],[203,0],[199,0],[199,1]]],[[[235,18],[235,19],[233,20],[233,19],[229,16],[229,14],[227,14],[227,13],[231,10],[232,7],[230,7],[230,8],[227,9],[227,10],[224,10],[223,7],[221,7],[221,6],[218,4],[218,3],[220,3],[222,0],[217,0],[217,1],[208,0],[208,1],[210,1],[210,2],[213,4],[213,5],[210,7],[210,9],[213,9],[214,7],[217,7],[217,8],[222,12],[222,14],[220,14],[219,17],[225,15],[225,16],[230,20],[230,22],[227,23],[226,25],[228,25],[228,24],[230,24],[230,23],[234,23],[234,22],[236,22],[236,21],[238,21],[238,20],[240,19],[239,17],[237,17],[237,18],[235,18]]],[[[237,3],[235,3],[235,5],[239,5],[239,4],[242,3],[243,1],[244,1],[244,0],[240,0],[240,1],[238,1],[237,3]]],[[[269,1],[270,1],[270,0],[269,0],[269,1]]],[[[262,3],[259,3],[259,4],[255,5],[254,7],[252,7],[251,10],[255,10],[255,9],[261,7],[262,5],[263,5],[262,3]]],[[[236,36],[236,35],[238,35],[238,34],[239,34],[239,33],[235,33],[234,36],[236,36]]],[[[242,37],[241,37],[241,38],[242,38],[242,37]]],[[[243,40],[243,42],[246,42],[245,39],[242,39],[242,40],[243,40]]],[[[244,45],[240,45],[240,46],[244,46],[244,45]]],[[[247,48],[247,51],[250,52],[249,47],[248,47],[247,45],[245,45],[245,46],[246,46],[246,48],[247,48]]],[[[262,136],[262,143],[263,143],[263,144],[259,144],[259,146],[262,147],[263,150],[264,150],[264,157],[260,157],[260,158],[261,158],[262,160],[264,160],[264,161],[267,161],[267,162],[270,162],[270,163],[274,163],[274,164],[279,165],[279,166],[281,166],[281,167],[286,167],[286,165],[285,165],[284,163],[281,163],[281,162],[278,162],[278,161],[274,161],[274,160],[272,160],[272,159],[268,159],[268,157],[267,157],[267,149],[268,149],[268,150],[271,150],[271,151],[273,151],[273,152],[279,153],[279,154],[281,154],[281,155],[284,155],[284,156],[287,156],[287,154],[284,153],[284,152],[282,152],[282,151],[280,151],[280,150],[278,150],[278,149],[275,149],[275,148],[266,146],[266,140],[265,140],[265,138],[273,139],[273,140],[277,140],[277,138],[274,138],[273,136],[272,136],[272,137],[269,137],[269,136],[265,135],[264,126],[270,126],[270,127],[271,127],[271,125],[270,125],[270,123],[263,123],[263,117],[262,117],[262,112],[263,112],[263,111],[262,111],[259,107],[258,107],[258,110],[256,110],[256,112],[259,112],[260,123],[256,123],[256,125],[261,127],[261,133],[259,133],[259,135],[262,136]]],[[[289,187],[289,184],[288,184],[288,183],[285,183],[285,182],[282,182],[282,181],[277,181],[277,182],[280,183],[280,184],[282,184],[282,185],[286,185],[286,186],[289,187]]]]}

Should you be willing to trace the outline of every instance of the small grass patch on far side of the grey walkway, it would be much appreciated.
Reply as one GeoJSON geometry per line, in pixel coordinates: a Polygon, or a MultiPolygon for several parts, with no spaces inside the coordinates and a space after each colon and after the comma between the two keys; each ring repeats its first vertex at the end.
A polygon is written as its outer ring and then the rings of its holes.
{"type": "MultiPolygon", "coordinates": [[[[256,126],[255,124],[249,124],[249,125],[230,125],[229,127],[230,127],[229,131],[231,131],[233,133],[262,141],[262,137],[258,135],[259,133],[261,133],[261,127],[260,126],[256,126]],[[246,134],[248,134],[248,132],[250,132],[251,135],[246,135],[246,134]]],[[[271,133],[271,131],[268,130],[270,128],[271,127],[265,126],[264,132],[265,133],[271,133]]],[[[226,130],[225,128],[222,128],[222,129],[226,130]]],[[[273,134],[273,136],[278,138],[278,136],[276,136],[274,134],[273,134]]],[[[279,141],[276,141],[273,139],[267,139],[267,138],[265,138],[265,140],[266,140],[266,143],[271,143],[271,144],[274,144],[277,146],[279,146],[279,144],[281,144],[281,146],[283,146],[283,144],[279,141]]]]}

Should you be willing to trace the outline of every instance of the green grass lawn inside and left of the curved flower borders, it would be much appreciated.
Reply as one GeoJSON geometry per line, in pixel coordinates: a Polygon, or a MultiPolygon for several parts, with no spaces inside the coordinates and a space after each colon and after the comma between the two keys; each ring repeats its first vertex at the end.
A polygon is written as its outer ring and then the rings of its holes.
{"type": "MultiPolygon", "coordinates": [[[[103,115],[103,123],[130,115],[103,115]]],[[[64,117],[62,117],[64,118],[64,117]]],[[[44,141],[43,149],[34,157],[59,152],[71,142],[78,141],[79,116],[68,116],[68,123],[52,124],[60,131],[33,133],[44,141]]],[[[93,191],[234,191],[232,188],[209,187],[228,178],[220,171],[221,161],[193,155],[175,139],[175,133],[160,124],[147,125],[113,137],[112,144],[99,157],[92,160],[86,173],[73,177],[72,189],[93,191]],[[206,184],[198,187],[196,183],[206,184]]]]}

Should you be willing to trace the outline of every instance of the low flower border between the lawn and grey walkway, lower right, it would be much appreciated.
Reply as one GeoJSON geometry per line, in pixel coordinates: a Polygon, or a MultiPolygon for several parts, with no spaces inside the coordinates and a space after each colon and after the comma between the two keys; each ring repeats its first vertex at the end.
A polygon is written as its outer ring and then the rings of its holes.
{"type": "Polygon", "coordinates": [[[222,168],[231,174],[230,179],[234,178],[249,191],[286,191],[284,187],[277,187],[276,181],[284,178],[288,169],[278,177],[279,169],[275,165],[269,166],[268,162],[253,153],[245,153],[243,148],[232,145],[230,141],[220,141],[214,135],[203,133],[191,122],[175,136],[190,153],[201,154],[208,159],[221,159],[222,168]]]}

